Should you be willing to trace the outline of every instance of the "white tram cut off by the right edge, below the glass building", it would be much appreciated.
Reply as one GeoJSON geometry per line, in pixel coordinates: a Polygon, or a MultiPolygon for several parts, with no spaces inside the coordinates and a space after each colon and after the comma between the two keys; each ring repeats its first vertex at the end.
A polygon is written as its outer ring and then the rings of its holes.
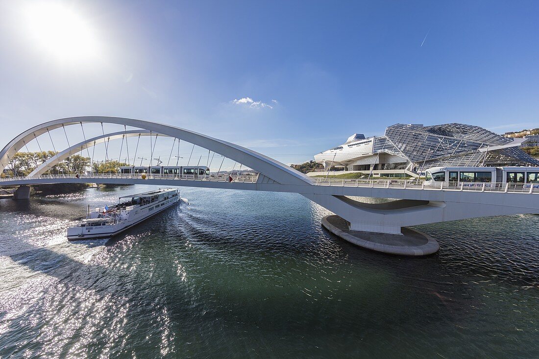
{"type": "Polygon", "coordinates": [[[425,171],[425,185],[469,187],[483,183],[514,184],[515,186],[539,188],[539,167],[433,167],[425,171]]]}

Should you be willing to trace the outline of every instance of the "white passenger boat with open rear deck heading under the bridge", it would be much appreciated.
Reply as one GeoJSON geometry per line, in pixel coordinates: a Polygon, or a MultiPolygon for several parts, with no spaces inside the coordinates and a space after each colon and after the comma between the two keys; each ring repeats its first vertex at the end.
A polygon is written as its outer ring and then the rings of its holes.
{"type": "Polygon", "coordinates": [[[158,189],[120,197],[118,204],[90,210],[86,218],[67,229],[67,239],[108,238],[127,230],[164,209],[178,203],[178,190],[158,189]]]}

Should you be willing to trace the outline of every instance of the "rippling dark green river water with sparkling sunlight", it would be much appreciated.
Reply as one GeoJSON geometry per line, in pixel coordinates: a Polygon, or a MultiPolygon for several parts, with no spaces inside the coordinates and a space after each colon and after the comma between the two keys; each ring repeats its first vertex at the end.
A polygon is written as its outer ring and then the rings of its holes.
{"type": "Polygon", "coordinates": [[[0,202],[0,357],[539,357],[539,216],[418,226],[440,252],[402,258],[300,195],[182,188],[67,242],[87,204],[149,189],[0,202]]]}

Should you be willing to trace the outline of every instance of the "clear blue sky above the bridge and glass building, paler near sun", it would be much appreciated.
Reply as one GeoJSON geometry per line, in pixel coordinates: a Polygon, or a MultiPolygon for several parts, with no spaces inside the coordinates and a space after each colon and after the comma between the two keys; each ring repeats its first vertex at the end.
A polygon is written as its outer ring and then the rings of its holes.
{"type": "Polygon", "coordinates": [[[3,0],[0,143],[110,115],[300,163],[397,122],[539,127],[538,18],[531,1],[3,0]],[[36,3],[77,13],[87,56],[58,58],[28,36],[36,3]]]}

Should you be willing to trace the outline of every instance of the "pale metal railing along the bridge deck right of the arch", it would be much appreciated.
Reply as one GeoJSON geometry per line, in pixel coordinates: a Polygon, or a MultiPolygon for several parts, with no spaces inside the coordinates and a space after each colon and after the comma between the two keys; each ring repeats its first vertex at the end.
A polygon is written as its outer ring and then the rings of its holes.
{"type": "Polygon", "coordinates": [[[539,183],[487,183],[487,182],[434,182],[425,184],[417,179],[338,179],[316,178],[313,184],[321,186],[340,187],[367,187],[367,188],[393,188],[418,189],[434,191],[473,191],[473,192],[502,192],[502,193],[539,193],[539,183]]]}

